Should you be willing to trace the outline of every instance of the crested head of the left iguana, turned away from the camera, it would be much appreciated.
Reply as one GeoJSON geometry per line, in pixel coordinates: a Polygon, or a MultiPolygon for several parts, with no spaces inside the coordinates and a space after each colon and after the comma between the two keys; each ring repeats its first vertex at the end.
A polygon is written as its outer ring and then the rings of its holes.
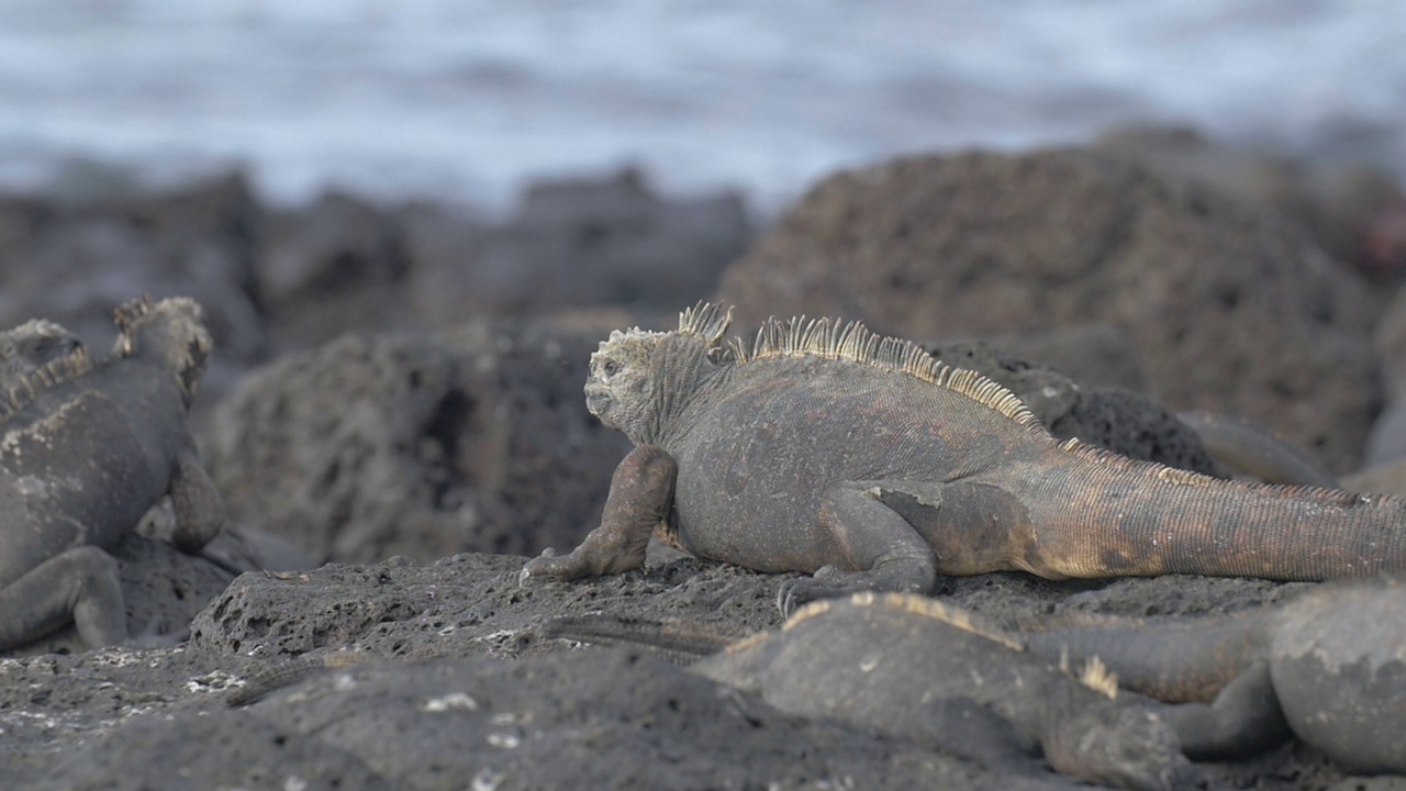
{"type": "Polygon", "coordinates": [[[115,311],[121,335],[112,352],[122,357],[155,357],[180,386],[188,405],[205,374],[211,338],[200,303],[188,297],[152,301],[142,296],[115,311]]]}

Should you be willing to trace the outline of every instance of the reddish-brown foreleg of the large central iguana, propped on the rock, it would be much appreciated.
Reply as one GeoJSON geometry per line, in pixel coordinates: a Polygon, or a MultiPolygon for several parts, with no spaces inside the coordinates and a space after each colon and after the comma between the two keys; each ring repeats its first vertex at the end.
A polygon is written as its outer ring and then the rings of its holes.
{"type": "Polygon", "coordinates": [[[579,580],[643,566],[650,536],[669,517],[676,473],[678,464],[658,445],[631,450],[610,479],[600,526],[586,533],[569,555],[557,557],[551,549],[544,550],[523,566],[519,578],[579,580]]]}

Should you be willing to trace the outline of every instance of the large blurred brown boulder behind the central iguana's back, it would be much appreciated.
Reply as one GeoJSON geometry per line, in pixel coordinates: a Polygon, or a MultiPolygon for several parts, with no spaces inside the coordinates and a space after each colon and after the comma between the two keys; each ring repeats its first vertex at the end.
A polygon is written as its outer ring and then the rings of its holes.
{"type": "Polygon", "coordinates": [[[1265,422],[1351,469],[1381,401],[1374,298],[1274,218],[1115,155],[897,159],[814,187],[728,267],[742,322],[908,338],[1101,321],[1156,396],[1265,422]]]}

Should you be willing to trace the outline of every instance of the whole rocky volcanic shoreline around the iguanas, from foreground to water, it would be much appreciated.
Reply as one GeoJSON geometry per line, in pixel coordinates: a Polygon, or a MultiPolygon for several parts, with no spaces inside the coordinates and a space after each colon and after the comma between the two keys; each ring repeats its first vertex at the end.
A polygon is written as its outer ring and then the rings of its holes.
{"type": "MultiPolygon", "coordinates": [[[[1211,144],[1171,141],[1171,153],[1161,137],[1135,152],[1116,138],[838,173],[755,239],[737,196],[662,198],[633,172],[534,187],[502,221],[342,194],[278,211],[238,176],[0,198],[0,325],[41,315],[104,348],[111,307],[134,293],[205,304],[218,343],[194,417],[205,466],[235,535],[287,543],[285,562],[262,563],[280,570],[235,577],[160,540],[124,542],[131,622],[190,624],[190,640],[76,653],[60,635],[41,649],[69,653],[0,660],[4,785],[1073,787],[538,633],[592,612],[770,629],[786,576],[662,552],[598,581],[519,586],[517,571],[575,546],[627,449],[582,404],[589,352],[612,328],[666,328],[699,298],[735,304],[744,332],[768,314],[834,314],[929,342],[1057,434],[1123,453],[1213,472],[1171,414],[1198,408],[1357,470],[1403,367],[1384,328],[1406,245],[1364,228],[1400,191],[1327,222],[1323,207],[1343,201],[1309,200],[1323,180],[1268,200],[1187,165],[1188,151],[1218,155],[1211,144]],[[347,653],[228,705],[280,662],[347,653]]],[[[987,574],[935,595],[994,618],[1180,616],[1303,587],[987,574]]],[[[1402,783],[1347,777],[1298,743],[1204,768],[1268,790],[1402,783]]]]}

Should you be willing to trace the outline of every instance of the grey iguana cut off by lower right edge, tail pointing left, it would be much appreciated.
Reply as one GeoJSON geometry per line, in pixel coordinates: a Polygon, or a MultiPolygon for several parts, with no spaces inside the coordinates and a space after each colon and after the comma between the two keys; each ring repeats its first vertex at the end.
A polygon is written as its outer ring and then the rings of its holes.
{"type": "Polygon", "coordinates": [[[1192,619],[1043,616],[1045,656],[1098,656],[1163,701],[1194,759],[1244,757],[1289,736],[1360,774],[1406,773],[1406,581],[1320,586],[1282,604],[1192,619]]]}

